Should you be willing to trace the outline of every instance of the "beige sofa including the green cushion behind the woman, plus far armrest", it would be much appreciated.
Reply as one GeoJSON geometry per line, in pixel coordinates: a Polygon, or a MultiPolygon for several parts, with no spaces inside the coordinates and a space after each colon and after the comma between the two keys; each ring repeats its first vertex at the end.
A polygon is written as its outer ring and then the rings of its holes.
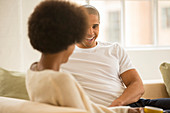
{"type": "MultiPolygon", "coordinates": [[[[24,75],[0,68],[0,113],[88,113],[82,109],[29,101],[24,75]]],[[[162,80],[144,81],[144,88],[142,98],[169,98],[162,80]]]]}

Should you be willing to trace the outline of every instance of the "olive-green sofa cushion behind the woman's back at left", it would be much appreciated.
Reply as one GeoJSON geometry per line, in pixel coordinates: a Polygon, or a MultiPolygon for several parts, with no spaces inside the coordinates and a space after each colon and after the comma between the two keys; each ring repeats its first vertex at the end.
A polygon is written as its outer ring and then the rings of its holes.
{"type": "Polygon", "coordinates": [[[0,96],[29,100],[25,73],[0,68],[0,96]]]}

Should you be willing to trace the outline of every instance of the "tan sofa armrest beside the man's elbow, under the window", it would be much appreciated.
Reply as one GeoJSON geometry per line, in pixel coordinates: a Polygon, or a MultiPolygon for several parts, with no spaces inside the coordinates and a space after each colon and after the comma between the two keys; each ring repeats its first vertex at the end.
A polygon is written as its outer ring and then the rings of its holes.
{"type": "Polygon", "coordinates": [[[145,81],[144,82],[145,93],[142,98],[156,99],[156,98],[170,98],[165,84],[162,80],[145,81]]]}

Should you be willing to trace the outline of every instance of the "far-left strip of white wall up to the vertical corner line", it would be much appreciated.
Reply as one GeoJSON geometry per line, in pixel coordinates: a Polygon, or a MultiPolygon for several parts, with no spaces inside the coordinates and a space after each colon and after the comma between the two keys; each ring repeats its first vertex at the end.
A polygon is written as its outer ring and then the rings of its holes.
{"type": "Polygon", "coordinates": [[[0,0],[0,66],[5,68],[21,68],[19,9],[18,0],[0,0]]]}

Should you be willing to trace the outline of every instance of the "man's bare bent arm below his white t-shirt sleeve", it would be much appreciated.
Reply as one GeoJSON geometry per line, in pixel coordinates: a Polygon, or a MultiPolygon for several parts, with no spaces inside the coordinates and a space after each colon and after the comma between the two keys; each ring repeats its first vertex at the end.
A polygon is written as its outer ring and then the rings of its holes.
{"type": "Polygon", "coordinates": [[[120,97],[112,102],[110,107],[123,106],[136,102],[144,93],[142,80],[135,69],[128,70],[120,76],[127,88],[120,97]]]}

